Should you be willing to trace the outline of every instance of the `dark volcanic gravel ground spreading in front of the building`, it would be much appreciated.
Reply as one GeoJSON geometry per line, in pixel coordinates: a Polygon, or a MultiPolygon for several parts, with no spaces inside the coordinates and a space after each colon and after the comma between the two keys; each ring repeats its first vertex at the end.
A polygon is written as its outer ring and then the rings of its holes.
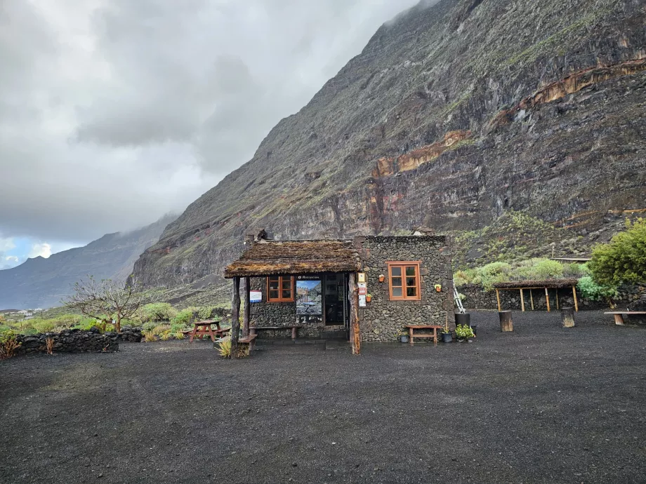
{"type": "Polygon", "coordinates": [[[207,342],[0,362],[0,483],[643,483],[646,328],[472,314],[472,344],[207,342]]]}

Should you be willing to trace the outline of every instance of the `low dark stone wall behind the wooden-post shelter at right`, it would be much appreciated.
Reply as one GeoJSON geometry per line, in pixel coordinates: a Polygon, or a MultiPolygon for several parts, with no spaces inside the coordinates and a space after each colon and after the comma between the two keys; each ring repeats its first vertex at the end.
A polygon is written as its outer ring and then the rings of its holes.
{"type": "MultiPolygon", "coordinates": [[[[464,295],[462,305],[466,309],[494,309],[498,310],[498,302],[496,300],[496,291],[485,291],[481,285],[468,284],[462,285],[458,288],[458,292],[464,295]]],[[[557,297],[558,307],[574,307],[574,297],[571,288],[564,289],[548,289],[550,296],[550,308],[556,309],[557,297]]],[[[525,311],[532,309],[532,302],[534,300],[535,310],[547,310],[547,302],[545,297],[545,290],[543,289],[529,289],[523,290],[525,297],[525,311]],[[531,295],[531,298],[530,298],[531,295]]],[[[579,302],[579,310],[602,310],[608,309],[605,301],[592,301],[581,297],[577,293],[577,300],[579,302]]],[[[619,288],[619,297],[614,300],[619,308],[628,308],[646,306],[646,287],[644,286],[621,286],[619,288]]],[[[520,290],[500,290],[500,303],[502,309],[520,310],[522,305],[520,303],[520,290]]]]}

